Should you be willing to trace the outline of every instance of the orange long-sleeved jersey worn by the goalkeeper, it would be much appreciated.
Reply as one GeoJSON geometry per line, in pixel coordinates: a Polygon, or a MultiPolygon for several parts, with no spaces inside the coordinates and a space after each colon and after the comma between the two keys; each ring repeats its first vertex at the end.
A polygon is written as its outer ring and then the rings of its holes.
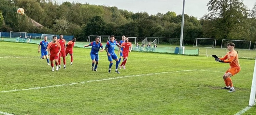
{"type": "Polygon", "coordinates": [[[236,67],[240,68],[238,54],[234,50],[232,52],[228,52],[223,58],[219,58],[219,59],[224,60],[225,63],[229,63],[231,68],[236,68],[236,67]]]}

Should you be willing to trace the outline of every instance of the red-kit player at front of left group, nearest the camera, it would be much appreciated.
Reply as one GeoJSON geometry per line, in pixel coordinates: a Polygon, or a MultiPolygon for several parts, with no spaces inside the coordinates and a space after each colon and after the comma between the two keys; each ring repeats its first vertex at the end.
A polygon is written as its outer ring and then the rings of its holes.
{"type": "Polygon", "coordinates": [[[53,64],[53,60],[55,61],[55,65],[56,65],[56,70],[58,71],[58,59],[59,59],[59,53],[61,51],[61,46],[59,44],[59,42],[57,42],[57,36],[53,37],[53,41],[50,42],[47,46],[47,50],[48,50],[48,55],[50,56],[50,61],[51,61],[51,66],[52,66],[52,71],[54,71],[54,64],[53,64]]]}

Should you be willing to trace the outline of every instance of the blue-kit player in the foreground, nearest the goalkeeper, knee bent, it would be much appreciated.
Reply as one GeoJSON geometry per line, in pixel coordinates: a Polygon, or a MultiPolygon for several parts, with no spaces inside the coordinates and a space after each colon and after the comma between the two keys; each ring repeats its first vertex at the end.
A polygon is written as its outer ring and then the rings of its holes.
{"type": "Polygon", "coordinates": [[[108,55],[108,59],[109,59],[109,73],[111,71],[111,67],[113,65],[113,59],[116,61],[116,69],[115,69],[115,72],[116,73],[120,73],[117,71],[117,68],[118,68],[118,65],[119,65],[119,61],[118,61],[118,57],[116,56],[114,50],[115,50],[115,46],[118,46],[118,47],[122,47],[120,46],[116,41],[115,41],[115,36],[114,35],[111,35],[110,37],[110,41],[108,41],[106,43],[106,47],[105,47],[105,50],[106,50],[106,53],[108,55]]]}

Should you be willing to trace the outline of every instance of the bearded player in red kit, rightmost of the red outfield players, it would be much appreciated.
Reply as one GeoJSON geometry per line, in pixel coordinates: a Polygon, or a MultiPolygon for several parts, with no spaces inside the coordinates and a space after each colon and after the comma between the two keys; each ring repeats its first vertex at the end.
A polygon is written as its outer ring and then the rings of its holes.
{"type": "Polygon", "coordinates": [[[123,69],[125,69],[125,63],[126,63],[126,61],[127,61],[127,59],[128,59],[128,54],[129,54],[129,52],[131,52],[131,50],[132,50],[132,44],[131,44],[131,42],[128,42],[129,41],[129,39],[126,37],[125,38],[125,42],[123,42],[122,44],[121,44],[121,46],[124,46],[124,48],[123,48],[123,57],[124,57],[124,61],[122,62],[122,64],[119,66],[119,69],[121,69],[121,67],[123,66],[123,69]]]}

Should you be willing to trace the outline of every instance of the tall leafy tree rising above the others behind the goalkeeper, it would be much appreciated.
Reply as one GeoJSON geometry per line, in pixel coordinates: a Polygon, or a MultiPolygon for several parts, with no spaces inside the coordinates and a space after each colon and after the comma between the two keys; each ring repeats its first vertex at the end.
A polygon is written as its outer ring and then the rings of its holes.
{"type": "MultiPolygon", "coordinates": [[[[212,28],[210,37],[216,39],[243,38],[248,27],[244,26],[247,9],[241,0],[210,0],[207,4],[210,13],[204,16],[212,28]]],[[[205,29],[204,29],[205,30],[205,29]]]]}

